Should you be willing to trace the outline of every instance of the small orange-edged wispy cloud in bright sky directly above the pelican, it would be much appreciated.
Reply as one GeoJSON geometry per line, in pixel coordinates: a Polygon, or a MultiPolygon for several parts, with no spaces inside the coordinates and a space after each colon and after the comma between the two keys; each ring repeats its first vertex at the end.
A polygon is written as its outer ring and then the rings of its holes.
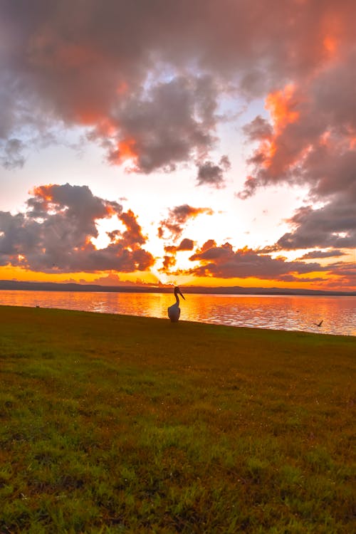
{"type": "Polygon", "coordinates": [[[189,219],[195,219],[201,214],[213,215],[214,211],[211,208],[194,208],[193,206],[189,206],[189,204],[182,204],[181,206],[175,206],[169,209],[167,219],[162,219],[160,222],[158,236],[166,239],[168,232],[169,238],[176,241],[182,236],[182,232],[189,219]]]}

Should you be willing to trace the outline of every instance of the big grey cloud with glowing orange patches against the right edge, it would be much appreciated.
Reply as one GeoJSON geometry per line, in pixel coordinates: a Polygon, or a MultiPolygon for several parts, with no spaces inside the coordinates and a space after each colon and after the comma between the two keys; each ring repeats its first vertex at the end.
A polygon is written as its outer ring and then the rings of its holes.
{"type": "MultiPolygon", "coordinates": [[[[336,45],[335,45],[336,46],[336,45]]],[[[290,219],[294,229],[277,247],[354,248],[356,209],[356,51],[340,51],[318,75],[270,93],[271,123],[256,117],[244,132],[257,141],[248,163],[251,174],[241,199],[273,184],[307,186],[310,201],[290,219]],[[353,96],[352,96],[353,95],[353,96]]]]}

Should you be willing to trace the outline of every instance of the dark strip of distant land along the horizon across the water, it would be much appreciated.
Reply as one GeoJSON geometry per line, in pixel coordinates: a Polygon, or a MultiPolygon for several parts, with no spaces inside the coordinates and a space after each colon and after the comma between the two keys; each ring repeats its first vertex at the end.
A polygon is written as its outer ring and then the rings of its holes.
{"type": "MultiPolygon", "coordinates": [[[[101,293],[171,293],[172,286],[99,286],[98,284],[55,283],[55,282],[21,282],[1,280],[0,290],[29,291],[78,291],[101,293]]],[[[328,291],[317,289],[293,288],[244,288],[186,286],[184,293],[201,293],[206,295],[304,295],[304,296],[356,296],[356,291],[328,291]]]]}

